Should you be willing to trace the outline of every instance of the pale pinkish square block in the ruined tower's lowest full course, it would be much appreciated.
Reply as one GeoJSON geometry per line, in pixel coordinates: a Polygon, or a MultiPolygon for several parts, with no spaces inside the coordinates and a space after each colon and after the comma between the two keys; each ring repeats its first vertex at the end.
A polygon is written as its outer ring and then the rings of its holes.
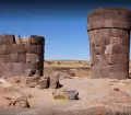
{"type": "Polygon", "coordinates": [[[24,72],[24,62],[13,62],[13,72],[24,72]]]}

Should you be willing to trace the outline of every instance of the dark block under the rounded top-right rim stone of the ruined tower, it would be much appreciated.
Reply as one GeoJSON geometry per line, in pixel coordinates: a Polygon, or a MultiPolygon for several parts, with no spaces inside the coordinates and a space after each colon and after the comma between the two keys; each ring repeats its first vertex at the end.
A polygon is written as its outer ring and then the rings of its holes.
{"type": "Polygon", "coordinates": [[[25,53],[37,54],[37,46],[36,45],[25,44],[25,53]]]}

